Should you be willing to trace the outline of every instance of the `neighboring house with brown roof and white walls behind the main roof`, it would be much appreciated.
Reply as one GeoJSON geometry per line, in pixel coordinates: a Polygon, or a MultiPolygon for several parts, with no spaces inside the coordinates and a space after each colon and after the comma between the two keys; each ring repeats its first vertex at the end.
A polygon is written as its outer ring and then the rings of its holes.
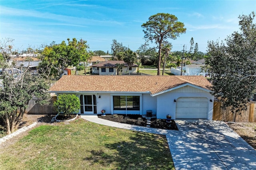
{"type": "Polygon", "coordinates": [[[99,75],[116,75],[117,67],[116,64],[124,64],[124,67],[119,71],[119,74],[122,73],[136,73],[138,69],[138,65],[132,64],[129,66],[124,61],[104,61],[98,64],[91,65],[92,73],[99,75]]]}

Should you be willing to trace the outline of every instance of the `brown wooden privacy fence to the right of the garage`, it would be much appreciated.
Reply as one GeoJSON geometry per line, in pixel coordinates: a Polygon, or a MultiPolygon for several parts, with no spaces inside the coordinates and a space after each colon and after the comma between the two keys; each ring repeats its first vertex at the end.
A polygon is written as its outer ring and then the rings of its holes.
{"type": "Polygon", "coordinates": [[[212,120],[228,122],[256,122],[256,103],[248,103],[246,111],[232,113],[231,107],[221,108],[221,102],[214,101],[212,120]]]}

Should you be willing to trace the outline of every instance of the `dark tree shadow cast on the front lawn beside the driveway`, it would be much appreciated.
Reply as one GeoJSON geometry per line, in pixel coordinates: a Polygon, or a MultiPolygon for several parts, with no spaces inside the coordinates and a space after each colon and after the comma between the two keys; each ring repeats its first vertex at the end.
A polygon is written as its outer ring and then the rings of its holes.
{"type": "Polygon", "coordinates": [[[165,135],[134,133],[128,140],[104,144],[111,152],[92,150],[92,157],[85,159],[102,166],[115,164],[118,169],[174,168],[165,135]]]}

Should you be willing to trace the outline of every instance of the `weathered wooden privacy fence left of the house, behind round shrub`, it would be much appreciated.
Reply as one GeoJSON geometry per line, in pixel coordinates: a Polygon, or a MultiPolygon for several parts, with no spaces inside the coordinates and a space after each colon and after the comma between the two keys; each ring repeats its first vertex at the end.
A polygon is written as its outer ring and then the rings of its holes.
{"type": "Polygon", "coordinates": [[[49,105],[40,105],[36,103],[34,100],[30,100],[28,103],[28,108],[25,113],[27,114],[35,114],[35,115],[48,115],[48,114],[57,114],[56,109],[53,107],[54,101],[57,100],[56,96],[53,96],[49,105]]]}

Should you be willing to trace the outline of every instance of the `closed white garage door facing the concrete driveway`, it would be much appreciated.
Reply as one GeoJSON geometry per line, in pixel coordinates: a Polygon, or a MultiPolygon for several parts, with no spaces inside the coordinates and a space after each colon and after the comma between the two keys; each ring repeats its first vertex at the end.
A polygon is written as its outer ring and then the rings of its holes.
{"type": "Polygon", "coordinates": [[[176,119],[207,119],[208,99],[180,97],[176,101],[176,119]]]}

